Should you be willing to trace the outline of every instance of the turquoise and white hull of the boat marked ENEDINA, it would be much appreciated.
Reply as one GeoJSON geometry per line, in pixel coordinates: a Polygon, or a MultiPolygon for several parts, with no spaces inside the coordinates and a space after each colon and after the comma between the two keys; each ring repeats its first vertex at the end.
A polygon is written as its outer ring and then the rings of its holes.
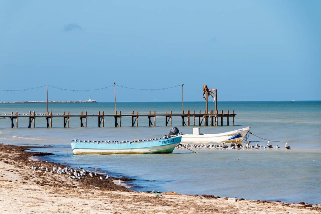
{"type": "Polygon", "coordinates": [[[141,143],[83,143],[73,142],[71,147],[75,155],[84,154],[166,154],[172,153],[178,143],[181,142],[182,137],[172,137],[168,139],[148,141],[141,143]]]}

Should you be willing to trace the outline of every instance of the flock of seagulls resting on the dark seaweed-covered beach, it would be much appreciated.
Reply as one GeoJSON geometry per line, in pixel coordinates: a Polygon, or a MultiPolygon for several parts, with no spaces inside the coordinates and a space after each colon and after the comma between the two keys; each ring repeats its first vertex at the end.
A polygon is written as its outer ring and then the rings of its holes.
{"type": "MultiPolygon", "coordinates": [[[[74,179],[74,180],[81,180],[83,179],[83,177],[86,177],[86,176],[90,176],[90,177],[100,176],[100,180],[108,179],[108,175],[89,172],[82,169],[81,167],[78,167],[78,169],[74,169],[69,167],[61,168],[60,166],[53,166],[52,169],[49,169],[46,166],[40,166],[40,167],[28,166],[28,169],[38,173],[68,175],[68,179],[74,179]]],[[[121,184],[120,179],[118,179],[118,184],[121,184]]]]}

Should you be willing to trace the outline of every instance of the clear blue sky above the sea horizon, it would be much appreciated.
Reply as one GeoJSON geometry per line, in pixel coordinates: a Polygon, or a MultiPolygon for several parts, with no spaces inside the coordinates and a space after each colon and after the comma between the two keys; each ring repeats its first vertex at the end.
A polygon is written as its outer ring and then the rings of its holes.
{"type": "MultiPolygon", "coordinates": [[[[321,1],[1,1],[0,89],[202,86],[223,101],[321,100],[321,1]]],[[[45,89],[0,101],[45,100],[45,89]]],[[[49,100],[113,101],[113,89],[49,100]]],[[[180,101],[117,88],[117,101],[180,101]]]]}

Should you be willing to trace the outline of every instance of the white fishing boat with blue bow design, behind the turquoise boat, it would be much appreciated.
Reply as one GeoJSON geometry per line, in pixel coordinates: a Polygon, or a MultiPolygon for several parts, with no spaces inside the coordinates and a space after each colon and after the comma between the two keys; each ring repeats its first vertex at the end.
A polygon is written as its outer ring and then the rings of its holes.
{"type": "Polygon", "coordinates": [[[201,134],[200,128],[193,128],[193,134],[183,134],[182,143],[239,143],[241,142],[251,127],[246,127],[234,131],[218,133],[218,134],[201,134]]]}

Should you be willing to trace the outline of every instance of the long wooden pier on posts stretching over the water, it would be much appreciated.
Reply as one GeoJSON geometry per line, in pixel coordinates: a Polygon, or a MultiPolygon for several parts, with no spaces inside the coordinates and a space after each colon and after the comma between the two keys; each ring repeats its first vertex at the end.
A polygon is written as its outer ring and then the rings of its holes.
{"type": "Polygon", "coordinates": [[[18,118],[29,118],[28,128],[35,128],[35,120],[36,118],[45,118],[47,121],[47,128],[52,128],[52,120],[53,118],[63,118],[63,127],[69,128],[70,118],[80,118],[80,127],[87,127],[87,118],[88,117],[97,117],[98,119],[98,127],[105,127],[105,118],[114,118],[115,127],[121,127],[122,117],[131,117],[132,122],[131,126],[138,127],[138,119],[139,118],[147,118],[148,126],[156,126],[156,117],[163,117],[165,119],[165,126],[172,126],[172,118],[179,117],[182,120],[182,126],[218,126],[219,120],[221,120],[221,126],[223,126],[223,118],[226,118],[226,125],[230,125],[230,117],[232,118],[232,125],[234,126],[234,118],[236,114],[234,110],[232,113],[229,110],[226,113],[223,113],[223,110],[219,113],[214,110],[210,112],[204,111],[193,111],[187,110],[186,112],[182,111],[181,114],[172,113],[172,111],[165,111],[164,114],[156,114],[155,111],[149,111],[147,114],[139,114],[138,111],[132,111],[131,114],[122,114],[121,111],[115,111],[115,114],[104,114],[104,111],[98,111],[98,114],[87,114],[87,111],[84,113],[81,111],[80,114],[70,114],[69,111],[67,113],[64,111],[62,114],[54,115],[52,111],[46,114],[36,114],[34,111],[29,111],[29,114],[18,114],[11,112],[11,115],[0,115],[0,119],[10,118],[11,120],[11,128],[18,128],[18,118]],[[84,120],[84,121],[83,121],[84,120]]]}

